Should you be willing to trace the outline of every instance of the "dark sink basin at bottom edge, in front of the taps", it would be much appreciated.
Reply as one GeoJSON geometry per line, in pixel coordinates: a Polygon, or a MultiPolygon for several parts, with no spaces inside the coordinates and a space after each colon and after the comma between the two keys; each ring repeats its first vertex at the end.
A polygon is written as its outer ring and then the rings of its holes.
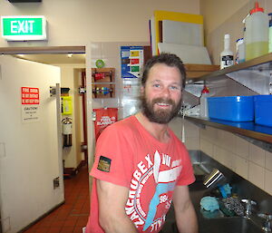
{"type": "Polygon", "coordinates": [[[248,218],[210,218],[199,222],[199,233],[264,233],[248,218]]]}

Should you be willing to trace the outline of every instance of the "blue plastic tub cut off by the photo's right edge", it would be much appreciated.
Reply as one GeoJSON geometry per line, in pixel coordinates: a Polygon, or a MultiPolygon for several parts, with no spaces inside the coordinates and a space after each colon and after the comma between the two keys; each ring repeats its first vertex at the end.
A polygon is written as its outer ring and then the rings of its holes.
{"type": "Polygon", "coordinates": [[[255,123],[272,126],[272,95],[254,96],[255,123]]]}

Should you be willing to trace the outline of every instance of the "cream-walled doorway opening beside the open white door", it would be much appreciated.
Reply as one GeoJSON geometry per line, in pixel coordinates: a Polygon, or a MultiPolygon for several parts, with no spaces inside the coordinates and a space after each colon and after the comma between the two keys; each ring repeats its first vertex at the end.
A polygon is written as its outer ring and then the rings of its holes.
{"type": "Polygon", "coordinates": [[[68,178],[73,176],[84,164],[88,163],[85,92],[78,92],[79,89],[85,90],[85,47],[19,48],[16,51],[13,49],[5,51],[5,53],[11,53],[20,59],[61,68],[62,91],[70,90],[68,93],[62,92],[62,95],[70,95],[73,104],[73,116],[62,114],[62,120],[72,119],[73,125],[73,146],[65,146],[63,143],[63,174],[68,178]]]}

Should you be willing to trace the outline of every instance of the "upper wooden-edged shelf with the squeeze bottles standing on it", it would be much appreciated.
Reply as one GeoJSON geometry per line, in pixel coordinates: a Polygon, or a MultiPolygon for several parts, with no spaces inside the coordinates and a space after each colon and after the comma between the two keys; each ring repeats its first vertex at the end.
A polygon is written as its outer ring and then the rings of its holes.
{"type": "Polygon", "coordinates": [[[254,58],[245,63],[234,64],[232,66],[229,66],[228,68],[202,75],[199,78],[189,79],[187,82],[196,83],[199,81],[213,81],[213,80],[222,78],[222,76],[224,75],[228,75],[228,73],[234,73],[241,70],[264,71],[264,70],[271,69],[271,66],[272,66],[271,61],[272,61],[272,53],[267,53],[263,56],[254,58]]]}

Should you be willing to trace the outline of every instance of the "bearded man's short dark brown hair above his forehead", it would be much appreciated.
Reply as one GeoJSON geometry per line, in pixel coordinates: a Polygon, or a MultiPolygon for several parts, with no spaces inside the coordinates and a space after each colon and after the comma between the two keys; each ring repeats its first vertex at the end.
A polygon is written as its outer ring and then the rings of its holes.
{"type": "Polygon", "coordinates": [[[142,86],[145,86],[145,83],[148,79],[151,68],[157,63],[163,63],[170,67],[177,67],[180,71],[182,87],[183,88],[185,87],[185,81],[186,81],[185,67],[183,63],[181,62],[180,57],[172,53],[160,53],[160,55],[155,55],[151,57],[151,59],[148,60],[148,62],[145,64],[143,68],[143,73],[141,78],[142,86]]]}

